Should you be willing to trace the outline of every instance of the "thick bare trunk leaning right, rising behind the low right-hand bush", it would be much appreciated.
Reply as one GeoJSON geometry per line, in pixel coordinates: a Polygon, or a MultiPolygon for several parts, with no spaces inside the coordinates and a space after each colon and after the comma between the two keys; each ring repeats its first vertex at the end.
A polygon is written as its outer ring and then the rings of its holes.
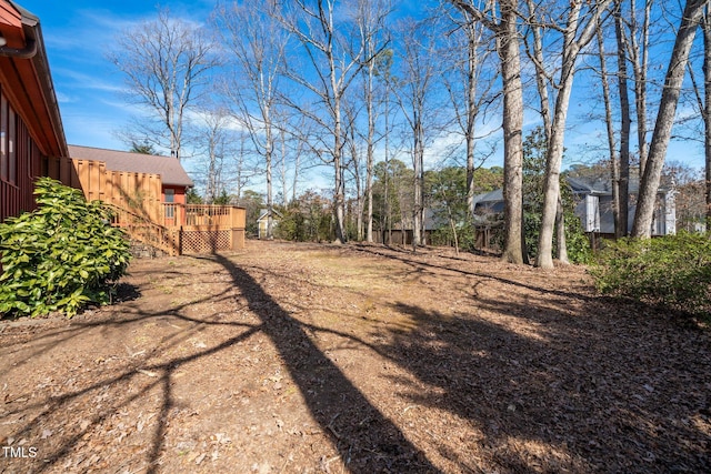
{"type": "Polygon", "coordinates": [[[681,84],[685,75],[689,52],[708,0],[689,0],[684,7],[674,48],[671,52],[664,89],[657,112],[654,133],[650,143],[644,173],[640,180],[640,194],[632,225],[632,236],[649,238],[652,230],[654,202],[661,180],[667,148],[677,112],[681,84]]]}

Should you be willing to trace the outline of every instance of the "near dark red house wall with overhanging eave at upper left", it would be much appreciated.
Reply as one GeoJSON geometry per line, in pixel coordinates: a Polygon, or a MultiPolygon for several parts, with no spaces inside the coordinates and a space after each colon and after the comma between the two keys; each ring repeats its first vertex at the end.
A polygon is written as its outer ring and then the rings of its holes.
{"type": "Polygon", "coordinates": [[[67,157],[40,20],[0,0],[0,222],[34,209],[37,178],[67,178],[67,157]]]}

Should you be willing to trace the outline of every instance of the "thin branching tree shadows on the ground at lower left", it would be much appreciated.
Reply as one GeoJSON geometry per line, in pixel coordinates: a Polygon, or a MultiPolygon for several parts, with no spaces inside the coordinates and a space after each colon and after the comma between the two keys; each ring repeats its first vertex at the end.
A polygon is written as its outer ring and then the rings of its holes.
{"type": "MultiPolygon", "coordinates": [[[[44,440],[46,437],[48,442],[51,442],[51,447],[50,443],[47,443],[38,452],[41,458],[18,460],[18,462],[26,462],[22,466],[22,472],[41,473],[46,471],[76,470],[76,466],[62,464],[64,458],[78,445],[86,444],[84,440],[90,436],[93,430],[99,428],[102,424],[111,425],[111,420],[117,414],[136,403],[143,405],[149,411],[154,409],[154,416],[149,418],[149,421],[153,420],[153,422],[148,423],[147,421],[147,425],[150,427],[146,430],[147,432],[152,432],[152,434],[147,433],[149,440],[141,447],[141,453],[146,472],[157,472],[159,470],[159,457],[164,448],[169,413],[177,407],[171,389],[176,374],[190,363],[219,354],[261,332],[260,325],[223,322],[220,321],[219,315],[203,314],[200,317],[190,317],[182,314],[182,311],[192,304],[211,297],[226,297],[224,293],[227,292],[217,295],[203,295],[202,299],[197,301],[177,304],[166,311],[158,312],[141,310],[140,304],[137,304],[136,313],[128,317],[108,321],[74,320],[61,327],[46,331],[39,337],[33,339],[32,346],[27,349],[28,356],[7,370],[18,370],[19,366],[27,364],[31,366],[36,357],[42,353],[58,349],[61,352],[70,347],[73,340],[86,336],[92,330],[99,330],[103,334],[116,330],[128,332],[134,329],[137,324],[154,323],[168,326],[173,325],[173,322],[186,323],[186,327],[182,331],[174,331],[172,334],[166,335],[159,346],[117,357],[126,361],[118,371],[108,371],[107,375],[100,374],[90,377],[88,383],[86,381],[82,382],[81,372],[100,372],[100,364],[103,362],[101,360],[77,360],[78,370],[68,374],[68,376],[71,375],[68,381],[60,381],[62,387],[59,393],[56,393],[57,387],[52,387],[50,392],[50,384],[48,383],[47,387],[39,391],[38,396],[26,393],[14,396],[14,400],[6,399],[6,416],[18,417],[21,421],[6,440],[7,443],[10,443],[10,438],[18,442],[23,438],[44,440]],[[173,354],[181,343],[184,343],[203,327],[210,325],[227,326],[232,329],[236,334],[212,346],[203,346],[203,349],[187,355],[173,354]],[[99,366],[94,369],[94,364],[99,364],[99,366]],[[77,386],[77,389],[72,390],[72,386],[77,386]],[[12,403],[18,400],[27,401],[16,409],[12,403]],[[76,423],[61,425],[61,422],[56,421],[56,418],[61,420],[67,412],[77,412],[81,418],[76,420],[76,423]],[[51,430],[48,430],[48,427],[51,427],[51,430]]],[[[132,302],[133,300],[129,297],[128,301],[132,302]]],[[[18,342],[10,346],[4,346],[3,350],[19,350],[23,344],[23,342],[18,342]]],[[[116,428],[114,431],[117,432],[116,435],[120,437],[120,431],[116,428]]],[[[97,457],[94,461],[99,461],[99,456],[94,456],[97,457]]],[[[133,460],[126,461],[128,463],[133,460]]],[[[100,468],[97,465],[92,465],[92,467],[100,468]]],[[[109,466],[104,467],[109,468],[109,466]]]]}

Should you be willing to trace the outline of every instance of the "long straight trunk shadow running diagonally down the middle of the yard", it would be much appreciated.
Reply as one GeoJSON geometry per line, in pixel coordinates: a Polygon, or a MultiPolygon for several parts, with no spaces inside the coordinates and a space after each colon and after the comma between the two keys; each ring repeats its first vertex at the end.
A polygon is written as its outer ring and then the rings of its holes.
{"type": "Polygon", "coordinates": [[[313,343],[293,319],[244,270],[213,256],[261,320],[313,418],[328,433],[346,467],[354,473],[438,472],[425,455],[385,417],[313,343]]]}

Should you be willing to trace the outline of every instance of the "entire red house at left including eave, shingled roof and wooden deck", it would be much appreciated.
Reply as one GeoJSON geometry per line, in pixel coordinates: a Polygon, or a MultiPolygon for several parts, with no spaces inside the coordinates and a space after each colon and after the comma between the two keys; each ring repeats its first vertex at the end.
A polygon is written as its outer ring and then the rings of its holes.
{"type": "Polygon", "coordinates": [[[67,145],[40,20],[0,0],[0,222],[36,208],[40,177],[113,205],[114,225],[168,253],[244,246],[244,209],[188,205],[177,160],[67,145]]]}

